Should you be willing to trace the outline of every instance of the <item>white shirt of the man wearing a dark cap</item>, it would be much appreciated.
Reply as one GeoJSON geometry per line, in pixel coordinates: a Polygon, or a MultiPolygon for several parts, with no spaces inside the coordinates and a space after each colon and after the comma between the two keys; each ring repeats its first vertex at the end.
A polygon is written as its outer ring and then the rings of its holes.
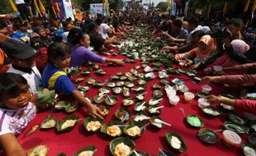
{"type": "Polygon", "coordinates": [[[36,66],[32,67],[31,73],[19,71],[17,69],[14,69],[12,66],[8,69],[7,72],[20,74],[21,76],[23,76],[27,80],[27,85],[29,85],[32,95],[36,94],[36,88],[42,85],[42,77],[36,66]]]}

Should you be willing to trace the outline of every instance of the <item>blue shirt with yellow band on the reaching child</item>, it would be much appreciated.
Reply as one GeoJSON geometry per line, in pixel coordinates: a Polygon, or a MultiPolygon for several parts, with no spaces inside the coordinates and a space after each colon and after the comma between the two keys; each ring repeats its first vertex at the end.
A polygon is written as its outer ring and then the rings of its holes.
{"type": "Polygon", "coordinates": [[[47,63],[42,76],[43,88],[55,89],[63,94],[72,94],[76,87],[64,70],[53,63],[47,63]]]}

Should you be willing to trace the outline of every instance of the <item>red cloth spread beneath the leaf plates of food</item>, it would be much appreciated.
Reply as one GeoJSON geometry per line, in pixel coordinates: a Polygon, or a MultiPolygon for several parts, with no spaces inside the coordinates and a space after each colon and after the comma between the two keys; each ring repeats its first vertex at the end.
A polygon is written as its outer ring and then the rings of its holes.
{"type": "MultiPolygon", "coordinates": [[[[123,56],[116,56],[116,58],[125,58],[123,56]]],[[[126,72],[130,71],[132,67],[135,67],[136,65],[140,65],[140,62],[136,62],[135,64],[132,63],[126,63],[125,68],[121,67],[107,67],[107,64],[104,64],[104,67],[102,67],[103,70],[107,71],[106,76],[96,76],[94,72],[92,71],[90,76],[85,76],[85,80],[80,84],[84,85],[86,83],[86,80],[89,77],[95,77],[98,81],[103,81],[106,79],[109,79],[110,76],[115,75],[117,72],[126,72]],[[105,66],[106,65],[106,66],[105,66]]],[[[87,67],[83,67],[83,70],[87,69],[87,67]]],[[[142,69],[140,69],[140,72],[142,72],[142,69]]],[[[80,76],[75,76],[72,78],[72,80],[77,79],[80,76]]],[[[192,78],[187,76],[169,76],[168,80],[173,80],[175,77],[182,78],[185,82],[185,84],[188,86],[190,91],[192,93],[196,94],[198,91],[201,91],[201,85],[194,85],[192,84],[192,78]]],[[[151,98],[151,95],[153,94],[153,90],[151,89],[152,85],[155,83],[159,83],[159,78],[155,78],[154,80],[149,81],[149,83],[146,85],[146,91],[148,94],[146,94],[145,101],[148,102],[151,98]]],[[[223,90],[220,89],[217,85],[212,85],[213,94],[221,94],[223,90]]],[[[164,89],[162,89],[164,90],[164,89]]],[[[93,98],[98,92],[98,89],[91,88],[88,91],[88,94],[85,96],[89,96],[93,98]]],[[[223,114],[221,117],[216,118],[209,118],[206,117],[206,115],[201,112],[201,108],[198,108],[197,106],[197,99],[193,99],[191,103],[185,103],[183,99],[183,94],[178,95],[181,99],[181,101],[178,103],[177,106],[171,107],[168,103],[168,99],[166,96],[164,96],[164,100],[159,105],[164,105],[165,108],[163,108],[162,114],[159,115],[165,122],[168,122],[172,124],[172,126],[164,126],[164,129],[160,131],[154,131],[152,127],[148,126],[147,130],[145,131],[145,134],[142,135],[139,139],[135,140],[136,149],[145,151],[153,156],[156,156],[159,152],[159,148],[161,149],[167,149],[169,151],[173,151],[168,146],[168,143],[165,139],[164,133],[166,131],[174,131],[177,132],[179,135],[183,137],[183,140],[187,143],[187,151],[183,152],[180,155],[241,155],[241,149],[239,146],[236,146],[232,149],[226,148],[225,145],[222,143],[223,136],[221,135],[221,132],[218,132],[220,135],[221,140],[216,143],[216,145],[205,145],[197,138],[197,131],[198,129],[192,128],[191,126],[187,125],[187,122],[185,121],[182,112],[179,111],[179,108],[183,108],[185,113],[188,114],[196,114],[205,122],[205,128],[209,128],[211,130],[218,130],[220,128],[223,128],[222,123],[227,120],[226,115],[223,114]]],[[[117,96],[119,99],[119,102],[111,108],[110,114],[105,118],[104,123],[109,122],[110,120],[116,120],[116,117],[114,113],[118,108],[121,108],[121,101],[123,97],[121,95],[117,96]]],[[[132,98],[135,98],[135,93],[132,94],[132,98]]],[[[62,97],[62,99],[69,99],[69,97],[62,97]]],[[[134,111],[134,105],[131,106],[129,109],[133,113],[133,117],[135,116],[134,111]]],[[[101,132],[97,132],[95,134],[88,134],[85,131],[85,128],[83,126],[83,122],[78,122],[78,125],[76,125],[73,128],[73,131],[68,133],[59,134],[55,130],[49,130],[49,131],[36,131],[33,135],[30,135],[23,138],[27,131],[31,129],[31,126],[34,126],[36,124],[40,124],[45,120],[45,117],[47,117],[48,114],[52,114],[53,117],[56,117],[58,120],[65,117],[66,113],[64,112],[39,112],[35,119],[31,121],[31,123],[26,127],[26,130],[21,133],[21,135],[18,137],[18,140],[20,141],[22,147],[26,150],[26,152],[31,149],[32,147],[36,145],[47,145],[50,149],[47,155],[54,156],[56,154],[60,153],[66,153],[67,155],[73,155],[76,152],[78,152],[79,149],[82,149],[85,146],[88,145],[95,145],[97,148],[97,156],[103,156],[103,155],[111,155],[109,150],[109,143],[111,140],[106,137],[106,135],[102,134],[101,132]]],[[[88,112],[86,108],[79,108],[77,112],[74,114],[77,114],[79,117],[88,117],[88,112]]],[[[244,139],[244,137],[243,137],[244,139]]],[[[245,138],[248,140],[248,137],[245,138]]],[[[178,153],[175,153],[178,155],[178,153]]]]}

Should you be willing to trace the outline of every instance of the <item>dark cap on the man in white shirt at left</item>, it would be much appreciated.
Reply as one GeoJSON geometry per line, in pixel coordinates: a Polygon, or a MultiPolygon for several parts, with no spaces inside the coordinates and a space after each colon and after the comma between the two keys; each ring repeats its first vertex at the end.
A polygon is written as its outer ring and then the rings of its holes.
{"type": "Polygon", "coordinates": [[[25,60],[36,54],[36,50],[28,44],[22,44],[15,39],[7,39],[1,44],[2,51],[7,57],[16,57],[25,60]]]}

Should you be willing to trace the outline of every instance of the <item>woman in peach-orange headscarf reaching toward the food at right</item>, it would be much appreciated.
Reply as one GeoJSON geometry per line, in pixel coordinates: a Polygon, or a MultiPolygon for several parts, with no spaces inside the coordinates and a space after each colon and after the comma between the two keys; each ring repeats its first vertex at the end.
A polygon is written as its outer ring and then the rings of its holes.
{"type": "Polygon", "coordinates": [[[205,57],[209,56],[216,50],[214,39],[210,35],[206,34],[201,37],[197,44],[197,48],[192,49],[190,52],[176,54],[175,59],[186,60],[185,66],[191,66],[193,63],[200,62],[205,57]],[[193,60],[193,61],[192,61],[193,60]]]}

